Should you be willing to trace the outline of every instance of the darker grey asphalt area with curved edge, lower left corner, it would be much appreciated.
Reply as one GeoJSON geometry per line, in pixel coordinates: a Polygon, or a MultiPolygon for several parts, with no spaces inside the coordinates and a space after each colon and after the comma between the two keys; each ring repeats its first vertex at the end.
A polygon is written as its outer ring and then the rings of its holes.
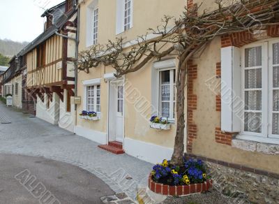
{"type": "Polygon", "coordinates": [[[68,163],[11,154],[0,154],[0,163],[0,203],[101,203],[114,194],[98,177],[68,163]]]}

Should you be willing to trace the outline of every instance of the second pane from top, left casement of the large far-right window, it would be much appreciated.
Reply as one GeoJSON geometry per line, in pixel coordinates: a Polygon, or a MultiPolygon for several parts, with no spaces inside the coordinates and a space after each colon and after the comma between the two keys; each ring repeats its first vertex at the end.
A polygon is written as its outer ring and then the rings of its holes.
{"type": "Polygon", "coordinates": [[[262,69],[250,69],[245,71],[245,88],[262,88],[262,69]]]}

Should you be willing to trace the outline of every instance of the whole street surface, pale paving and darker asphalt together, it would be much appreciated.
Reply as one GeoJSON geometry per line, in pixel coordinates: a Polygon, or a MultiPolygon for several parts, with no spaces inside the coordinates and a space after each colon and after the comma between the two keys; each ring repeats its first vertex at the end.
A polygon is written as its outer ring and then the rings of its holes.
{"type": "MultiPolygon", "coordinates": [[[[100,150],[91,140],[3,103],[0,122],[3,122],[0,124],[0,203],[16,203],[9,199],[25,198],[31,199],[27,203],[34,202],[34,197],[15,179],[22,170],[29,170],[38,182],[49,186],[46,189],[56,198],[63,198],[61,203],[90,203],[120,193],[135,200],[137,187],[147,184],[151,163],[100,150]]],[[[17,201],[24,203],[24,200],[17,201]]]]}

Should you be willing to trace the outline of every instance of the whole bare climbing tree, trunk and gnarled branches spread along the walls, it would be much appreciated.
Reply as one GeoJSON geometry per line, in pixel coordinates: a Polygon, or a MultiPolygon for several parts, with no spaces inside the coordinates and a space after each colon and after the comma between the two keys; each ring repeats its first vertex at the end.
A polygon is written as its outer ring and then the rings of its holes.
{"type": "MultiPolygon", "coordinates": [[[[242,0],[244,1],[244,0],[242,0]]],[[[256,31],[264,27],[277,25],[279,3],[275,0],[260,1],[261,10],[251,13],[252,5],[245,2],[223,6],[222,0],[216,1],[218,9],[211,13],[197,15],[200,6],[186,8],[174,26],[169,29],[172,17],[165,16],[163,25],[149,29],[156,38],[149,40],[147,35],[137,38],[137,45],[130,49],[123,48],[123,38],[108,41],[106,45],[94,45],[79,54],[79,69],[89,73],[90,68],[100,64],[112,66],[116,77],[140,70],[151,59],[158,59],[176,54],[179,65],[176,70],[176,136],[172,164],[181,165],[184,153],[185,128],[185,93],[187,73],[190,60],[200,54],[206,45],[217,36],[233,34],[241,31],[256,31]]],[[[247,1],[246,1],[247,2],[247,1]]]]}

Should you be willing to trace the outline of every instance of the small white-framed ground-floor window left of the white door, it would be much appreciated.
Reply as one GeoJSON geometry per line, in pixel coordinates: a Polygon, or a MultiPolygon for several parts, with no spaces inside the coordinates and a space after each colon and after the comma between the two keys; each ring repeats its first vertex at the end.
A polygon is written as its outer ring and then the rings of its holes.
{"type": "Polygon", "coordinates": [[[86,110],[100,112],[100,85],[86,88],[86,110]]]}

